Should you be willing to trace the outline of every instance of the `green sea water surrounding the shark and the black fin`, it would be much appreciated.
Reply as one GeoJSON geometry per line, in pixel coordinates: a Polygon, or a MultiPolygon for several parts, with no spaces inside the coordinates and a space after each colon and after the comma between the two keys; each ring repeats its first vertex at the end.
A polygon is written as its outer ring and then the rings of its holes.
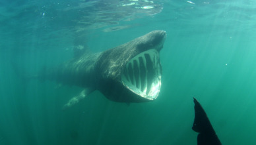
{"type": "Polygon", "coordinates": [[[197,144],[197,98],[222,144],[256,143],[256,1],[0,1],[0,144],[197,144]],[[152,30],[167,33],[154,102],[117,103],[98,91],[22,79],[106,51],[152,30]],[[15,67],[14,67],[15,66],[15,67]]]}

